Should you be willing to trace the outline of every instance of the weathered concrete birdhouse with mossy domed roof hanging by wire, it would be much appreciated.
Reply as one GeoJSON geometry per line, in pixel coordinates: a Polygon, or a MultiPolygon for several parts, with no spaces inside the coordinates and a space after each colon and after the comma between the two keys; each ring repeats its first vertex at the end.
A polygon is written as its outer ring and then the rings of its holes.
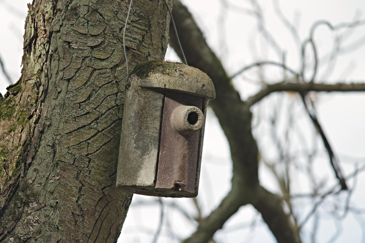
{"type": "Polygon", "coordinates": [[[132,193],[196,197],[211,79],[176,62],[137,65],[126,90],[116,185],[132,193]]]}

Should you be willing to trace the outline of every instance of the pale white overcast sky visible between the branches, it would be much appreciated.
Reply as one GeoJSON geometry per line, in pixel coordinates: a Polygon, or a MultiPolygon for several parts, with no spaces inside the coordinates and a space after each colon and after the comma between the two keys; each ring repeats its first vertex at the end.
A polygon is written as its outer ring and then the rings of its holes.
{"type": "MultiPolygon", "coordinates": [[[[0,0],[0,57],[5,63],[12,80],[15,82],[20,77],[21,55],[23,53],[23,33],[24,21],[27,13],[27,0],[0,0]]],[[[196,21],[204,32],[207,42],[216,51],[222,59],[223,65],[229,74],[234,74],[241,67],[254,61],[270,59],[280,61],[278,55],[267,48],[255,31],[257,23],[252,16],[244,15],[238,11],[224,11],[220,0],[184,0],[189,10],[193,13],[196,21]],[[218,20],[217,20],[218,19],[218,20]],[[219,20],[220,19],[220,20],[219,20]],[[220,27],[222,24],[223,27],[220,27]]],[[[230,0],[230,3],[239,5],[242,8],[251,8],[247,0],[230,0]]],[[[293,69],[299,67],[298,51],[295,43],[285,28],[280,24],[278,18],[274,15],[273,2],[261,0],[261,7],[265,13],[266,27],[272,30],[274,38],[280,43],[280,46],[287,53],[287,63],[293,69]]],[[[300,39],[308,37],[308,31],[312,24],[319,19],[329,20],[333,24],[341,22],[350,22],[354,18],[365,19],[365,1],[364,0],[279,0],[283,14],[289,21],[296,21],[296,27],[299,28],[300,39]],[[297,17],[296,17],[297,16],[297,17]],[[299,16],[299,17],[298,17],[299,16]]],[[[238,9],[238,8],[236,8],[238,9]]],[[[347,32],[347,39],[343,44],[347,45],[356,40],[363,38],[364,42],[365,28],[359,28],[358,31],[347,32]],[[359,31],[360,30],[360,31],[359,31]]],[[[326,27],[320,27],[315,32],[315,40],[320,55],[324,55],[331,50],[333,46],[333,34],[326,27]]],[[[308,53],[310,55],[310,53],[308,53]]],[[[176,55],[172,50],[168,50],[166,58],[174,59],[176,55]]],[[[362,81],[364,79],[364,59],[365,46],[354,52],[342,55],[334,66],[331,75],[324,81],[362,81]]],[[[277,70],[269,70],[269,80],[275,81],[280,77],[277,70]]],[[[326,73],[326,66],[320,70],[318,77],[326,73]]],[[[255,72],[250,72],[247,76],[255,77],[255,72]]],[[[254,94],[258,87],[250,84],[242,77],[234,80],[242,97],[246,98],[254,94]]],[[[0,72],[0,93],[5,93],[7,81],[0,72]]],[[[262,117],[268,117],[272,112],[271,104],[280,99],[280,95],[272,95],[254,107],[254,121],[262,117]],[[261,114],[261,116],[258,116],[261,114]]],[[[284,104],[293,102],[291,98],[285,98],[284,104]]],[[[294,99],[295,101],[295,99],[294,99]]],[[[364,93],[341,93],[341,94],[321,94],[318,98],[317,112],[320,122],[334,148],[338,157],[343,162],[342,167],[346,174],[353,170],[354,162],[365,162],[365,94],[364,93]]],[[[301,112],[300,105],[294,106],[298,114],[301,112]]],[[[284,110],[284,108],[283,108],[284,110]]],[[[302,115],[303,116],[303,115],[302,115]]],[[[307,117],[301,118],[296,126],[300,127],[306,133],[311,128],[311,123],[307,117]]],[[[265,121],[261,121],[260,129],[255,130],[255,135],[259,136],[267,129],[265,121]]],[[[280,128],[284,129],[284,128],[280,128]]],[[[318,144],[322,146],[320,140],[318,144]]],[[[263,142],[265,143],[265,142],[263,142]]],[[[316,171],[319,176],[326,177],[327,183],[334,182],[333,173],[328,169],[328,160],[322,150],[322,155],[316,161],[316,171]]],[[[202,161],[202,171],[200,178],[200,189],[197,200],[203,207],[203,215],[207,216],[211,210],[217,207],[230,189],[230,180],[232,175],[230,162],[229,147],[226,138],[220,129],[218,120],[214,113],[208,110],[207,124],[205,128],[204,151],[202,161]]],[[[277,191],[276,182],[272,175],[269,174],[265,167],[260,167],[261,183],[273,192],[277,191]]],[[[301,175],[297,175],[295,190],[301,191],[306,189],[305,183],[301,181],[301,175]]],[[[352,183],[352,182],[351,182],[352,183]]],[[[359,177],[357,188],[353,194],[353,202],[358,207],[364,208],[364,185],[365,177],[359,177]]],[[[130,212],[128,212],[124,224],[121,239],[118,242],[152,242],[158,222],[160,220],[160,206],[155,203],[152,206],[138,206],[142,200],[156,200],[154,197],[135,195],[132,201],[130,212]]],[[[338,200],[343,200],[339,195],[338,200]]],[[[193,203],[190,199],[164,199],[165,203],[174,202],[185,208],[188,212],[195,213],[193,203]]],[[[309,211],[306,202],[298,202],[298,211],[309,211]],[[301,206],[301,207],[299,207],[301,206]]],[[[329,202],[324,204],[330,207],[329,202]]],[[[174,234],[185,238],[189,236],[196,225],[191,225],[176,210],[165,209],[164,226],[167,223],[173,225],[174,234]]],[[[305,215],[303,213],[303,215],[305,215]]],[[[331,234],[335,231],[336,224],[333,218],[326,215],[325,210],[321,210],[323,221],[318,229],[318,242],[327,242],[331,234]]],[[[309,223],[310,225],[311,223],[309,223]]],[[[349,214],[346,220],[341,223],[343,230],[341,236],[335,241],[338,243],[347,242],[365,242],[362,237],[360,225],[364,227],[364,219],[349,214]],[[358,222],[362,223],[358,223],[358,222]]],[[[158,242],[171,242],[167,236],[169,232],[166,227],[162,229],[158,242]]],[[[275,242],[272,234],[268,231],[266,225],[262,223],[260,215],[257,215],[251,206],[243,207],[223,226],[223,229],[215,235],[217,242],[275,242]],[[250,227],[253,219],[257,219],[255,227],[250,227]],[[247,226],[248,225],[248,226],[247,226]]],[[[309,236],[303,238],[303,242],[310,242],[309,236]]],[[[177,242],[175,240],[175,242],[177,242]]]]}

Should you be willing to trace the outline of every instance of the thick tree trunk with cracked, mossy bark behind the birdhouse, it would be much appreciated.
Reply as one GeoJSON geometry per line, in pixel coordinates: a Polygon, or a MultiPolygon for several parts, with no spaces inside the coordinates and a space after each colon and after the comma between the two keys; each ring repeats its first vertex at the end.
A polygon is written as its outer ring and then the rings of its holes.
{"type": "MultiPolygon", "coordinates": [[[[132,194],[115,188],[129,1],[34,0],[22,77],[0,97],[0,241],[116,242],[132,194]]],[[[128,61],[162,59],[169,15],[136,0],[128,61]]]]}

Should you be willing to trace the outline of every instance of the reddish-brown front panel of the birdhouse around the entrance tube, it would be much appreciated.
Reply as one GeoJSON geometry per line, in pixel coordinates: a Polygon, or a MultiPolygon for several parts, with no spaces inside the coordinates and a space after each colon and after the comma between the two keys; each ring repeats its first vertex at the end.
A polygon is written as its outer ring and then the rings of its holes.
{"type": "Polygon", "coordinates": [[[182,190],[196,194],[200,130],[191,135],[181,135],[174,129],[170,117],[179,105],[191,105],[201,110],[203,98],[185,93],[165,92],[155,188],[182,190]]]}

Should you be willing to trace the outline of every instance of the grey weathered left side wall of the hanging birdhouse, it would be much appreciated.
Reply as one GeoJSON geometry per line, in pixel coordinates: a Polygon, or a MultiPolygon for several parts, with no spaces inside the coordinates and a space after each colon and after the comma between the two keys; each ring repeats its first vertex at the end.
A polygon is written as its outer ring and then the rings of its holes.
{"type": "Polygon", "coordinates": [[[164,95],[132,80],[126,93],[117,186],[154,187],[164,95]]]}

